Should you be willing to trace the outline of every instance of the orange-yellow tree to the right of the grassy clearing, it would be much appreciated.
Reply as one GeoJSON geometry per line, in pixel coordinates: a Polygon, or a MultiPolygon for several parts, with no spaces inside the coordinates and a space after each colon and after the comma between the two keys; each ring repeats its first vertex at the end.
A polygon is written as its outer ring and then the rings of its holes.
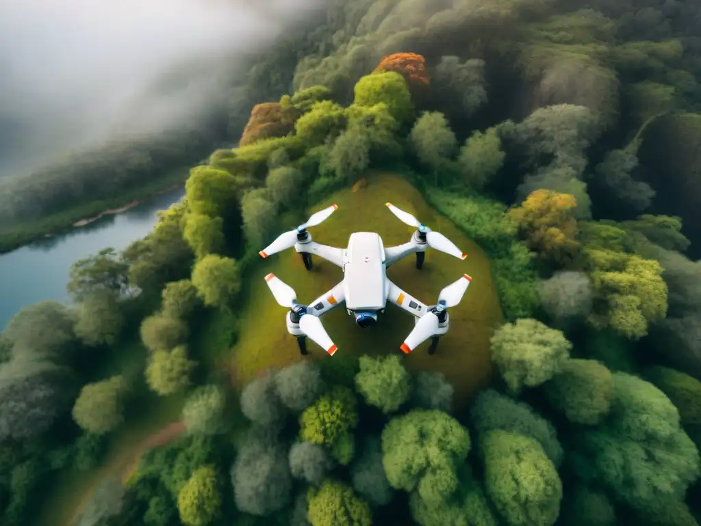
{"type": "Polygon", "coordinates": [[[552,190],[531,192],[521,206],[509,210],[526,244],[540,257],[564,263],[579,249],[577,201],[571,194],[552,190]]]}

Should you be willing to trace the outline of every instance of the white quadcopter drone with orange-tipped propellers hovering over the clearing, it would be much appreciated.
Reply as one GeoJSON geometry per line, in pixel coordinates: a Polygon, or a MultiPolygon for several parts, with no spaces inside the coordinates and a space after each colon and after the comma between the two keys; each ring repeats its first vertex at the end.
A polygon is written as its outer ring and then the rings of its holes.
{"type": "Polygon", "coordinates": [[[465,259],[468,255],[461,252],[443,234],[418,222],[413,215],[400,210],[392,203],[386,203],[386,206],[402,222],[410,227],[416,227],[408,243],[384,248],[381,237],[374,232],[354,232],[348,239],[346,249],[315,243],[306,229],[321,224],[339,208],[331,205],[312,214],[309,220],[299,225],[297,229],[278,236],[273,243],[259,252],[261,257],[268,257],[294,246],[294,250],[301,255],[307,270],[312,268],[313,254],[343,269],[341,283],[315,299],[311,306],[298,303],[294,289],[280,281],[280,278],[274,274],[268,274],[265,277],[277,302],[290,309],[287,312],[287,330],[297,337],[302,354],[307,354],[305,337],[309,337],[326,349],[331,356],[334,355],[336,345],[324,329],[320,316],[342,302],[346,302],[346,311],[355,316],[355,323],[362,328],[367,328],[377,321],[377,313],[384,312],[387,300],[411,313],[414,316],[414,330],[400,346],[400,349],[407,354],[428,338],[432,339],[428,353],[433,354],[439,337],[448,332],[447,309],[460,303],[472,278],[464,274],[458,281],[441,290],[437,305],[426,306],[392,283],[387,278],[386,269],[411,254],[416,254],[416,268],[421,269],[424,252],[428,247],[460,259],[465,259]]]}

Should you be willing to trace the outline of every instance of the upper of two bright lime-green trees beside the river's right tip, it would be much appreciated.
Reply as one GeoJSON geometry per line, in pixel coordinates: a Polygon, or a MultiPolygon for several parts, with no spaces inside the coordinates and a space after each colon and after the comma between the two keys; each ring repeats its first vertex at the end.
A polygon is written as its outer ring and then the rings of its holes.
{"type": "Polygon", "coordinates": [[[236,203],[236,177],[212,166],[196,166],[185,183],[190,211],[195,214],[223,217],[226,208],[236,203]]]}

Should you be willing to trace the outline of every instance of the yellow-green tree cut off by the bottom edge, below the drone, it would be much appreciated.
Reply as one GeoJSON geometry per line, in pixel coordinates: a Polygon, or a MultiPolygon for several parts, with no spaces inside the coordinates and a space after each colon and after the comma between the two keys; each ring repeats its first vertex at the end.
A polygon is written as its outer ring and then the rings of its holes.
{"type": "Polygon", "coordinates": [[[344,484],[327,480],[318,490],[309,490],[307,499],[311,526],[372,525],[370,506],[344,484]]]}

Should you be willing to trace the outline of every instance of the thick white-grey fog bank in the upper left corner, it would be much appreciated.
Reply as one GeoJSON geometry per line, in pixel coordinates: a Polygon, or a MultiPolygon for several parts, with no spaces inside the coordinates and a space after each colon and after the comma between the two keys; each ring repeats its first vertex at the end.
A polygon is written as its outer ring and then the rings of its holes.
{"type": "Polygon", "coordinates": [[[192,119],[320,1],[0,2],[0,177],[192,119]]]}

